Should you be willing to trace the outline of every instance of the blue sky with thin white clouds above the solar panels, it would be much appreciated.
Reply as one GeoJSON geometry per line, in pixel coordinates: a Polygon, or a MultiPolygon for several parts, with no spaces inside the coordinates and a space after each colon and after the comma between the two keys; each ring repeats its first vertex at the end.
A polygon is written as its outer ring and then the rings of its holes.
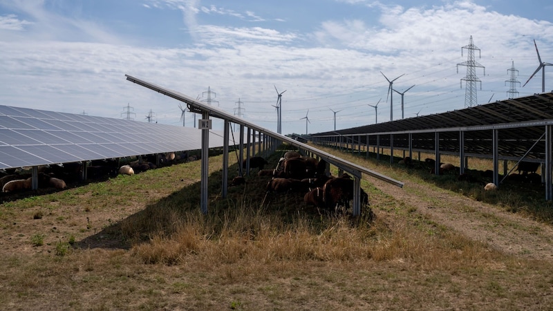
{"type": "Polygon", "coordinates": [[[1,0],[0,104],[200,119],[127,74],[275,132],[281,93],[283,134],[348,129],[464,109],[471,52],[477,104],[541,93],[552,21],[549,0],[1,0]]]}

